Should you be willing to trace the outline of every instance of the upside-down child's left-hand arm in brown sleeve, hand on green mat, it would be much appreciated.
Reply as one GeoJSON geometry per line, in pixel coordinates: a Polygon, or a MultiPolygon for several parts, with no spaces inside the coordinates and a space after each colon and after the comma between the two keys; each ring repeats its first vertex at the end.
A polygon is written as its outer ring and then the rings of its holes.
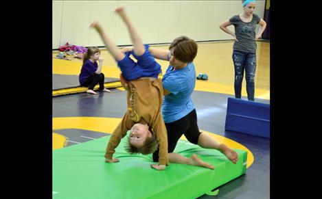
{"type": "Polygon", "coordinates": [[[113,158],[113,154],[115,153],[115,148],[119,146],[119,142],[121,142],[122,138],[126,136],[126,132],[133,126],[133,122],[129,119],[128,112],[122,118],[122,121],[119,122],[119,125],[113,131],[110,140],[108,141],[108,145],[106,147],[105,152],[105,161],[106,162],[117,162],[118,159],[113,158]]]}

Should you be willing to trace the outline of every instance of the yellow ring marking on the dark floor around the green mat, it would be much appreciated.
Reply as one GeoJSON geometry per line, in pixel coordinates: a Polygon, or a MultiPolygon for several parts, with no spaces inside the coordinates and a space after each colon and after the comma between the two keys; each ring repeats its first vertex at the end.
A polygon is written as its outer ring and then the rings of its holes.
{"type": "MultiPolygon", "coordinates": [[[[122,118],[100,118],[100,117],[67,117],[67,118],[53,118],[53,131],[62,129],[82,129],[87,131],[97,131],[100,133],[113,133],[117,124],[121,122],[122,118]]],[[[200,129],[200,131],[202,131],[200,129]]],[[[251,150],[235,142],[227,137],[202,131],[211,137],[214,137],[218,142],[224,143],[231,148],[238,148],[247,151],[247,165],[249,168],[254,161],[254,156],[251,150]]],[[[187,140],[183,135],[182,140],[187,140]]],[[[53,133],[53,150],[65,146],[66,138],[57,133],[53,133]]]]}

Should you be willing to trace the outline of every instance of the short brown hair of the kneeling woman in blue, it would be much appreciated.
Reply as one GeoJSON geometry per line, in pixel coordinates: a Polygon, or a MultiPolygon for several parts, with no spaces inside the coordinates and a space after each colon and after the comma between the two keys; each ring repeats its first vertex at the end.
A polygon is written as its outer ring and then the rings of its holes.
{"type": "Polygon", "coordinates": [[[194,61],[198,51],[198,45],[194,40],[187,38],[186,36],[180,36],[173,40],[169,50],[174,47],[173,55],[176,59],[179,59],[184,63],[194,61]]]}

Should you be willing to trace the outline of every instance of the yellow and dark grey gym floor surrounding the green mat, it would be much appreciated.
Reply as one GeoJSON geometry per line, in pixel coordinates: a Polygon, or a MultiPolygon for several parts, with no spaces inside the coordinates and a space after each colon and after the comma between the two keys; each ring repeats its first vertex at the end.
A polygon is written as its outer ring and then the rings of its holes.
{"type": "MultiPolygon", "coordinates": [[[[156,46],[168,49],[168,46],[156,46]]],[[[198,115],[200,131],[227,137],[249,150],[245,175],[219,187],[218,196],[200,198],[270,198],[270,140],[242,133],[225,131],[227,98],[233,97],[233,41],[198,43],[194,60],[196,73],[207,73],[209,80],[196,81],[192,100],[198,115]]],[[[270,43],[257,42],[257,68],[255,74],[255,101],[270,103],[270,43]]],[[[53,75],[79,75],[82,60],[54,59],[53,75]]],[[[103,72],[106,77],[117,78],[119,69],[111,55],[102,49],[103,72]]],[[[168,62],[158,61],[165,71],[168,62]]],[[[64,81],[63,78],[60,81],[64,81]]],[[[246,83],[243,81],[242,98],[246,100],[246,83]]],[[[111,89],[111,93],[96,95],[79,93],[53,97],[53,150],[81,144],[110,135],[126,112],[126,91],[111,89]],[[104,121],[104,122],[102,122],[104,121]]],[[[226,142],[220,140],[220,142],[226,142]]],[[[227,141],[227,144],[229,142],[227,141]]],[[[103,159],[102,159],[103,161],[103,159]]],[[[53,162],[54,164],[54,162],[53,162]]]]}

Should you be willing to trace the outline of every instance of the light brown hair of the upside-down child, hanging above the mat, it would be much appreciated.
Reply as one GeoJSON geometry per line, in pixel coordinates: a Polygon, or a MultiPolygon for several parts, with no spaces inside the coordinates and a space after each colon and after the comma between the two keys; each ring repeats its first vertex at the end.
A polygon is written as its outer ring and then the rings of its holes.
{"type": "Polygon", "coordinates": [[[152,134],[152,137],[146,137],[146,141],[144,142],[143,146],[141,148],[137,148],[130,144],[130,137],[128,138],[128,144],[125,146],[125,149],[127,152],[130,154],[135,154],[135,153],[141,153],[143,155],[148,155],[150,153],[153,153],[158,149],[158,141],[157,138],[155,137],[152,129],[149,127],[149,131],[152,134]]]}

